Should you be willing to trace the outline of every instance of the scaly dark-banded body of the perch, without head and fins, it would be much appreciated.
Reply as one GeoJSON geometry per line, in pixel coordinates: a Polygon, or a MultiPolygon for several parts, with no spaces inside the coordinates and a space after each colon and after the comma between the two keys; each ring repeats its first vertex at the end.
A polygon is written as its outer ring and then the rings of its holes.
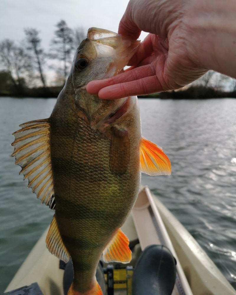
{"type": "Polygon", "coordinates": [[[80,289],[91,287],[103,249],[137,197],[140,162],[135,138],[130,138],[127,171],[114,175],[109,167],[111,140],[80,118],[51,118],[55,217],[73,261],[74,285],[80,289]]]}

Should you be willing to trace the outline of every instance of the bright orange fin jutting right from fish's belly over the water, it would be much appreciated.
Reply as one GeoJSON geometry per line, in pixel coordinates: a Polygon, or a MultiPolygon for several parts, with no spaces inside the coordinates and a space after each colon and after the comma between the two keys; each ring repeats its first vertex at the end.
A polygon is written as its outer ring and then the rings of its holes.
{"type": "Polygon", "coordinates": [[[149,175],[170,175],[171,162],[162,148],[142,136],[140,143],[141,171],[149,175]]]}

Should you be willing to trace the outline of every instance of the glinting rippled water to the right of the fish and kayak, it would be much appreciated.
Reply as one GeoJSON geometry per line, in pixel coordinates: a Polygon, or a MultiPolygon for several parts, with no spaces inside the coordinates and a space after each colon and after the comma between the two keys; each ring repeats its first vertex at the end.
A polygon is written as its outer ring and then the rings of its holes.
{"type": "Polygon", "coordinates": [[[142,175],[142,183],[236,289],[236,100],[142,100],[140,109],[145,137],[163,147],[172,165],[170,177],[142,175]]]}

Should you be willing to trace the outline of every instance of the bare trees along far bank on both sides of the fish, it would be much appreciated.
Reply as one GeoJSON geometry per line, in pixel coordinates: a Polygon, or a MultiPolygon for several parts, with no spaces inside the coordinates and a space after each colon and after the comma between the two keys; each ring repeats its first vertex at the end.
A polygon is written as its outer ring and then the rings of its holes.
{"type": "MultiPolygon", "coordinates": [[[[24,29],[25,39],[19,45],[9,39],[0,42],[0,67],[3,69],[0,71],[0,95],[34,96],[34,92],[29,90],[41,89],[35,96],[51,96],[53,93],[49,88],[59,86],[54,91],[57,96],[65,84],[75,50],[86,37],[86,32],[83,27],[71,29],[64,20],[60,20],[55,27],[48,52],[42,48],[40,32],[35,28],[24,29]]],[[[190,87],[200,87],[201,92],[204,89],[236,92],[236,80],[208,71],[190,87]]]]}

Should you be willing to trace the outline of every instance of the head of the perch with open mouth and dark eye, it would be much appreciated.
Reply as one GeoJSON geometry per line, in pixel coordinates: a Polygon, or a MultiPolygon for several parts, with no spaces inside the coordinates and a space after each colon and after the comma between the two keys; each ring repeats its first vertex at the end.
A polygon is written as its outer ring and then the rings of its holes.
{"type": "Polygon", "coordinates": [[[127,40],[108,30],[90,28],[77,48],[70,73],[74,103],[84,112],[91,128],[96,129],[97,123],[114,113],[127,98],[101,100],[97,95],[87,93],[86,85],[122,73],[139,44],[138,40],[127,40]]]}

